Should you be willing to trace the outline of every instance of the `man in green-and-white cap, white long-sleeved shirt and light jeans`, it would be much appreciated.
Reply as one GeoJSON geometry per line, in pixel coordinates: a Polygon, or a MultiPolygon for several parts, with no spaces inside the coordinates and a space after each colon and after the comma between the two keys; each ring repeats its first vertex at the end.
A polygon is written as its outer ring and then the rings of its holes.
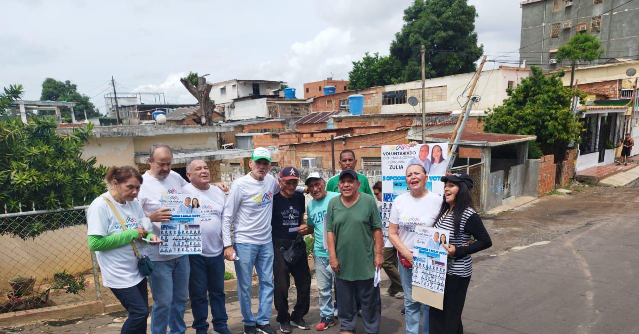
{"type": "Polygon", "coordinates": [[[224,258],[235,261],[238,300],[245,334],[256,331],[274,334],[268,323],[273,305],[273,243],[271,215],[273,195],[280,190],[277,180],[268,174],[271,154],[266,148],[256,148],[251,155],[249,174],[231,185],[224,206],[222,240],[224,258]],[[231,241],[231,224],[234,225],[231,241]],[[250,283],[253,266],[258,273],[259,307],[254,316],[250,309],[250,283]]]}

